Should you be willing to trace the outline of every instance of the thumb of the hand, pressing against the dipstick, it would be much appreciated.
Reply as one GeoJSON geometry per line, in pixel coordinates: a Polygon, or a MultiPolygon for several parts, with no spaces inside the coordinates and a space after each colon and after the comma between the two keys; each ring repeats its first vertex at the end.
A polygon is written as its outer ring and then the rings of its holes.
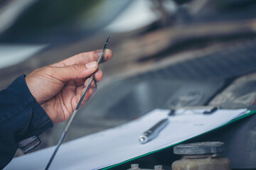
{"type": "Polygon", "coordinates": [[[65,67],[53,67],[53,75],[55,79],[60,81],[69,81],[73,79],[85,79],[98,68],[97,62],[89,62],[87,64],[73,64],[65,67]]]}

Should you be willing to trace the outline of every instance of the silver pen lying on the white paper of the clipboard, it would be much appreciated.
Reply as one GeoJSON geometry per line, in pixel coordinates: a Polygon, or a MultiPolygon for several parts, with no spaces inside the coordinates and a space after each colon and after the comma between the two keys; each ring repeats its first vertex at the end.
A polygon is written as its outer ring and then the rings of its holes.
{"type": "Polygon", "coordinates": [[[139,142],[141,144],[144,144],[146,142],[149,142],[149,140],[153,140],[157,135],[159,135],[159,132],[163,130],[166,125],[168,125],[169,120],[168,118],[165,118],[163,120],[160,120],[156,125],[154,125],[149,130],[146,130],[146,132],[142,133],[142,135],[139,136],[139,142]]]}

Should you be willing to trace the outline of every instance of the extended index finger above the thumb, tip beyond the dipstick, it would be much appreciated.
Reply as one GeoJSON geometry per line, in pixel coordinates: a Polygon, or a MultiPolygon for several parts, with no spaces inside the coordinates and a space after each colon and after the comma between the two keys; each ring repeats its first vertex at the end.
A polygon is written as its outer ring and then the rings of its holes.
{"type": "MultiPolygon", "coordinates": [[[[63,67],[63,66],[72,65],[72,64],[86,64],[88,62],[97,61],[98,58],[100,57],[101,52],[102,50],[95,50],[92,52],[83,52],[78,55],[74,55],[73,57],[70,57],[61,62],[55,63],[53,65],[57,67],[63,67]]],[[[110,60],[112,57],[113,57],[112,51],[107,49],[102,58],[102,62],[107,62],[107,60],[110,60]]]]}

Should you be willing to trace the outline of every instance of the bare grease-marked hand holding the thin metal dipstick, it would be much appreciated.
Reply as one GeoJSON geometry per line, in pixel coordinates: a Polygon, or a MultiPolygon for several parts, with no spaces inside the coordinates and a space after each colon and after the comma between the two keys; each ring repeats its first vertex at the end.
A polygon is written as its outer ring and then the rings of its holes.
{"type": "MultiPolygon", "coordinates": [[[[95,72],[95,81],[100,81],[103,73],[98,69],[97,59],[101,50],[85,52],[61,62],[36,69],[26,76],[28,89],[36,101],[46,111],[53,124],[67,120],[75,111],[87,84],[87,77],[95,72]]],[[[102,62],[112,58],[112,51],[106,50],[102,62]]],[[[82,104],[96,91],[92,81],[82,104]]]]}

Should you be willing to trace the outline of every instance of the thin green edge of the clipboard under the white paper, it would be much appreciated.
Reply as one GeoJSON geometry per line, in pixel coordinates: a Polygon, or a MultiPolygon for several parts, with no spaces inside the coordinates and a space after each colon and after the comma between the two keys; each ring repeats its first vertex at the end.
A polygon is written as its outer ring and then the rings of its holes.
{"type": "MultiPolygon", "coordinates": [[[[247,111],[249,111],[249,110],[247,110],[247,111]]],[[[221,125],[221,126],[218,127],[218,128],[221,128],[221,127],[223,127],[223,126],[225,126],[225,125],[228,125],[228,124],[230,124],[230,123],[233,123],[233,122],[235,122],[235,121],[237,121],[237,120],[240,120],[240,119],[242,119],[242,118],[245,118],[245,117],[247,117],[247,116],[249,116],[249,115],[252,115],[252,114],[254,114],[254,113],[256,113],[256,111],[250,111],[250,113],[247,113],[247,114],[242,115],[242,116],[240,116],[240,117],[238,117],[238,118],[235,118],[235,119],[233,119],[233,120],[230,120],[228,123],[225,123],[224,125],[221,125]]],[[[216,129],[218,129],[218,128],[215,128],[215,129],[213,129],[213,130],[216,130],[216,129]]],[[[200,135],[197,135],[197,136],[195,136],[195,137],[204,135],[204,134],[206,134],[206,133],[208,133],[208,132],[211,132],[211,131],[213,131],[213,130],[209,130],[209,131],[204,132],[204,133],[202,133],[202,134],[200,134],[200,135]]],[[[192,137],[192,138],[193,138],[193,137],[192,137]]],[[[189,138],[189,139],[187,139],[187,140],[191,140],[192,138],[189,138]]],[[[183,140],[182,142],[185,142],[185,141],[187,141],[187,140],[183,140]]],[[[174,147],[175,145],[178,145],[178,144],[180,144],[180,143],[182,143],[182,142],[178,142],[178,143],[176,143],[176,144],[174,144],[174,145],[170,145],[169,147],[174,147]]],[[[138,158],[140,158],[140,157],[144,157],[144,156],[146,156],[146,155],[153,154],[153,153],[155,153],[155,152],[159,152],[159,151],[161,151],[161,150],[163,150],[163,149],[166,149],[166,148],[169,148],[169,147],[164,147],[164,148],[162,148],[162,149],[158,149],[158,150],[155,150],[155,151],[153,151],[153,152],[149,152],[149,153],[147,153],[147,154],[142,154],[142,155],[139,156],[139,157],[134,157],[134,158],[132,158],[132,159],[128,159],[127,161],[120,162],[119,164],[114,164],[114,165],[112,165],[112,166],[108,166],[108,167],[103,168],[103,169],[100,169],[100,170],[111,169],[111,168],[114,168],[114,166],[119,166],[119,165],[121,165],[121,164],[130,162],[130,161],[133,161],[134,159],[138,159],[138,158]]]]}

